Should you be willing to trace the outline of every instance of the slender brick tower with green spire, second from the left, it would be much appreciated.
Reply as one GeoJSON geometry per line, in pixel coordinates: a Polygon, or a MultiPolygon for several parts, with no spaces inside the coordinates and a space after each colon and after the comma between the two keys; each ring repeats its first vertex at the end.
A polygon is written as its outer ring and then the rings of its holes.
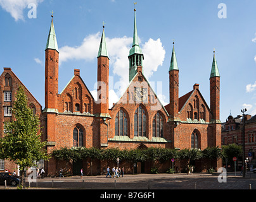
{"type": "Polygon", "coordinates": [[[109,76],[109,57],[106,49],[105,30],[101,36],[98,52],[98,102],[97,114],[108,114],[108,76],[109,76]]]}

